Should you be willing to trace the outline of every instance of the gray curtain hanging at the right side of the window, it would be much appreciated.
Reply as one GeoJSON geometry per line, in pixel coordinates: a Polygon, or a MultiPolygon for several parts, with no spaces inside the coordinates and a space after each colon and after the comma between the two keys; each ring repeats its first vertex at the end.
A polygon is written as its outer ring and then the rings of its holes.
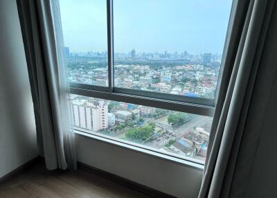
{"type": "Polygon", "coordinates": [[[277,92],[276,25],[274,0],[233,1],[199,198],[249,197],[265,115],[277,92]]]}

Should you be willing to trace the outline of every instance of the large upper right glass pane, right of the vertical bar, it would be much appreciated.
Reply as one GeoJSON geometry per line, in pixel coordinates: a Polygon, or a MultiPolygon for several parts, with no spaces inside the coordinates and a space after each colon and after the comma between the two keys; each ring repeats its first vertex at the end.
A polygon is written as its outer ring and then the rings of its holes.
{"type": "Polygon", "coordinates": [[[214,98],[231,0],[114,0],[116,87],[214,98]]]}

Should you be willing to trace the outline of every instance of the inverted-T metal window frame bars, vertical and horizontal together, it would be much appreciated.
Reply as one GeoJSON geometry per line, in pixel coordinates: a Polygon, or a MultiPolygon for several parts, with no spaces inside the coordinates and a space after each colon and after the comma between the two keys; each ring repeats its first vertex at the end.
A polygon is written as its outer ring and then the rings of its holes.
{"type": "MultiPolygon", "coordinates": [[[[143,91],[114,87],[114,12],[113,0],[107,0],[107,52],[108,52],[108,87],[92,84],[70,82],[70,91],[80,96],[114,100],[118,102],[129,102],[135,105],[145,105],[160,109],[180,111],[199,116],[213,117],[215,111],[215,98],[192,98],[188,96],[170,93],[159,93],[154,91],[143,91]]],[[[220,73],[222,66],[220,68],[220,73]]],[[[220,76],[219,76],[220,78],[220,76]]],[[[218,79],[219,79],[218,78],[218,79]]],[[[217,80],[220,82],[220,80],[217,80]]]]}

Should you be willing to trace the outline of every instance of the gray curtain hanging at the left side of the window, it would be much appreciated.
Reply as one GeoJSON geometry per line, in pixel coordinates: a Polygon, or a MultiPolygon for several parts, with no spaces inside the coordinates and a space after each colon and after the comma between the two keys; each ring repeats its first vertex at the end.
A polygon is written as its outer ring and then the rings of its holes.
{"type": "Polygon", "coordinates": [[[33,96],[39,150],[49,170],[75,170],[75,140],[58,1],[17,0],[17,8],[33,96]]]}

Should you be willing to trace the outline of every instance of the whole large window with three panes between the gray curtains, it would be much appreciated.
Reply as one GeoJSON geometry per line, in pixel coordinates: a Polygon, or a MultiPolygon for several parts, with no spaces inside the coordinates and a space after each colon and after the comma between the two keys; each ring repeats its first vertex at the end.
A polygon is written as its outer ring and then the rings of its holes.
{"type": "Polygon", "coordinates": [[[204,163],[231,3],[60,0],[75,129],[204,163]]]}

